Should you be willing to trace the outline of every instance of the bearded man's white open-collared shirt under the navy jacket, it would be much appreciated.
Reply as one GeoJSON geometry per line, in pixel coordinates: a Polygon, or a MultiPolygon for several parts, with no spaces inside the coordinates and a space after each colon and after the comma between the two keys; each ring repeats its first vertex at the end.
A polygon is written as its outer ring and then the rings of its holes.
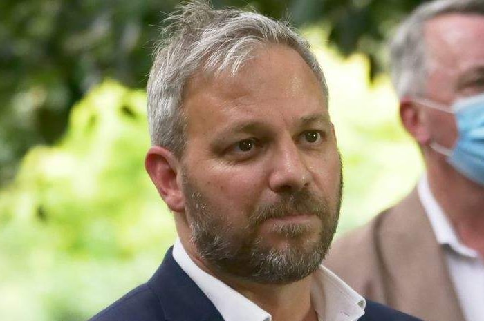
{"type": "MultiPolygon", "coordinates": [[[[271,315],[227,284],[200,269],[176,240],[173,257],[207,295],[225,321],[271,321],[271,315]]],[[[324,266],[315,271],[311,302],[319,321],[355,321],[364,315],[365,300],[324,266]]]]}

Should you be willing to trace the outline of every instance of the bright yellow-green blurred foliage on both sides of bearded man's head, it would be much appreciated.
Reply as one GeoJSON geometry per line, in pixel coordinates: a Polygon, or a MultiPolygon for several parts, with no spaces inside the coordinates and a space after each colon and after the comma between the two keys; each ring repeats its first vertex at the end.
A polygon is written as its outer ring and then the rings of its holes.
{"type": "MultiPolygon", "coordinates": [[[[387,77],[306,37],[325,70],[344,162],[338,233],[407,193],[418,152],[397,120],[387,77]]],[[[143,161],[145,93],[107,80],[72,108],[65,135],[32,148],[0,190],[0,320],[80,321],[155,271],[174,223],[143,161]]]]}

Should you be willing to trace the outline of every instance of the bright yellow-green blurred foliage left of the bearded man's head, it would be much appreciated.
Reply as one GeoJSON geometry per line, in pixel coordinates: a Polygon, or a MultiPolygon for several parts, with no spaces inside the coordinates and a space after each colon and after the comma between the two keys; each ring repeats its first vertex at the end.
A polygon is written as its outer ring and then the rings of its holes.
{"type": "Polygon", "coordinates": [[[145,93],[106,81],[0,191],[0,320],[86,320],[146,280],[174,224],[142,166],[145,93]]]}

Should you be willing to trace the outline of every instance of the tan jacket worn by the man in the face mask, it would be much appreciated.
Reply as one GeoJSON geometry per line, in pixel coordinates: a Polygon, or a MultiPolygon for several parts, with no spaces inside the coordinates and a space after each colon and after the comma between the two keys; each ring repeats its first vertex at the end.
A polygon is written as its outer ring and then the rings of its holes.
{"type": "Polygon", "coordinates": [[[370,300],[426,321],[465,320],[416,189],[336,240],[323,264],[370,300]]]}

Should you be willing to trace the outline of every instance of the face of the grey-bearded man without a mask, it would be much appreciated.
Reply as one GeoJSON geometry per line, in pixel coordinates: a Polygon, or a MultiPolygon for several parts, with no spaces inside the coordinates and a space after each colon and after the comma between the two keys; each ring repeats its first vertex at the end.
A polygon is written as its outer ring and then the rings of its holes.
{"type": "Polygon", "coordinates": [[[317,268],[331,242],[341,164],[306,62],[286,46],[254,53],[235,76],[198,75],[185,88],[185,215],[212,271],[293,282],[317,268]]]}

